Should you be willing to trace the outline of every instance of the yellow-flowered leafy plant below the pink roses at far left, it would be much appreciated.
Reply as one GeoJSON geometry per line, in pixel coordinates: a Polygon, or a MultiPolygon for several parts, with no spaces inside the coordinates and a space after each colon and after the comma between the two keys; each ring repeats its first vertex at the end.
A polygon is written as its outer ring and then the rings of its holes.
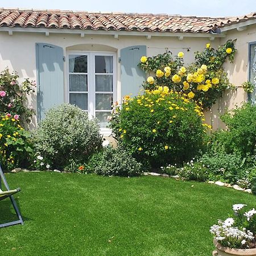
{"type": "Polygon", "coordinates": [[[7,170],[27,167],[33,152],[30,133],[19,123],[18,115],[0,116],[0,163],[7,170]]]}

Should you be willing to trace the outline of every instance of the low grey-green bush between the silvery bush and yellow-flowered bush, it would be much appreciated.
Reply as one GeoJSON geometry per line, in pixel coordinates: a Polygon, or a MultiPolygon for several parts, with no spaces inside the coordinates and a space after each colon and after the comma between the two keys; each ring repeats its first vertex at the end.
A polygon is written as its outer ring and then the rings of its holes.
{"type": "Polygon", "coordinates": [[[142,172],[142,164],[120,147],[105,147],[101,159],[95,164],[96,173],[104,176],[136,176],[142,172]]]}

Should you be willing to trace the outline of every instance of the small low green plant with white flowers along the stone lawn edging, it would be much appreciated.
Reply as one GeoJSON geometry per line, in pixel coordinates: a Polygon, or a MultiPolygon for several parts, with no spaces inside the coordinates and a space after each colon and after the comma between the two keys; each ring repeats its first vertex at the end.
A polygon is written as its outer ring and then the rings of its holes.
{"type": "Polygon", "coordinates": [[[179,169],[178,175],[187,180],[205,181],[208,179],[208,170],[201,162],[188,162],[179,169]]]}

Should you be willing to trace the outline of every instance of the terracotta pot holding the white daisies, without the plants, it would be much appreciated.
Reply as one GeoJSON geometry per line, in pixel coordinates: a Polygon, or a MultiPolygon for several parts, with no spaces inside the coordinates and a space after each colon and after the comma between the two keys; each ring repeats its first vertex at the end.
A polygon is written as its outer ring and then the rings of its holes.
{"type": "Polygon", "coordinates": [[[231,249],[229,247],[223,247],[217,240],[213,240],[216,250],[212,252],[213,256],[235,256],[235,255],[245,255],[245,256],[256,256],[256,248],[254,249],[231,249]]]}

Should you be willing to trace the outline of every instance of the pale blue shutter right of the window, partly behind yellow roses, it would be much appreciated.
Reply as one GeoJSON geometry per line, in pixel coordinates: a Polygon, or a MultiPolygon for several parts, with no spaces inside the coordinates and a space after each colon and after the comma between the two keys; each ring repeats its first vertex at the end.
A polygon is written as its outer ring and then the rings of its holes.
{"type": "Polygon", "coordinates": [[[141,56],[146,56],[146,46],[130,46],[121,49],[121,96],[137,96],[142,90],[146,73],[138,67],[141,56]]]}

